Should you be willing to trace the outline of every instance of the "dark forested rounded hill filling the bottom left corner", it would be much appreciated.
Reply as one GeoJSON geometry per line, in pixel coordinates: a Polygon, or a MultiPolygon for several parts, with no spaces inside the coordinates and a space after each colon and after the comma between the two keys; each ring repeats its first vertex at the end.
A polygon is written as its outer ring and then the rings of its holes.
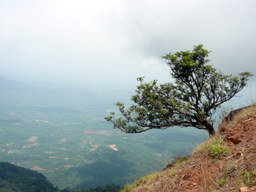
{"type": "Polygon", "coordinates": [[[42,173],[0,162],[0,191],[59,191],[42,173]]]}

